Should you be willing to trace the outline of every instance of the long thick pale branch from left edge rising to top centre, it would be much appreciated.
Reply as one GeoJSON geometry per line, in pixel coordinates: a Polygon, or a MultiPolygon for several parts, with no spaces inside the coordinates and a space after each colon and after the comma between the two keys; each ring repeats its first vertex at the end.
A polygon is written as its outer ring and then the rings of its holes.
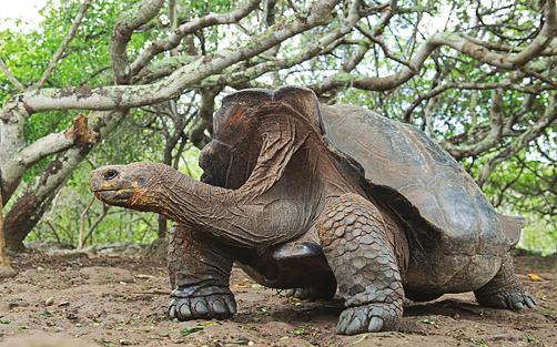
{"type": "MultiPolygon", "coordinates": [[[[168,79],[153,84],[30,91],[13,98],[3,111],[4,113],[10,112],[16,109],[17,104],[21,103],[30,113],[69,109],[118,110],[166,101],[178,96],[182,90],[195,85],[232,64],[260,54],[301,32],[327,23],[331,9],[336,2],[333,0],[318,1],[307,18],[296,19],[288,24],[277,23],[252,38],[251,42],[239,44],[234,51],[221,51],[213,54],[211,60],[206,58],[198,60],[178,69],[168,79]]],[[[1,113],[0,118],[2,118],[1,113]]]]}

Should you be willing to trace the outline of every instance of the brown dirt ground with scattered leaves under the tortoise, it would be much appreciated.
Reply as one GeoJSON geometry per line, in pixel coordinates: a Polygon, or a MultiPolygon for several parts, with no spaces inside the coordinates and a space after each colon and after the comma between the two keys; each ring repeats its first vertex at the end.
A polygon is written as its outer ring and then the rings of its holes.
{"type": "Polygon", "coordinates": [[[538,300],[534,310],[489,309],[472,294],[446,295],[407,303],[399,331],[358,336],[334,334],[340,302],[282,297],[240,269],[232,276],[233,319],[179,323],[165,317],[163,264],[40,254],[13,261],[20,274],[0,283],[0,346],[557,346],[555,256],[516,257],[538,300]]]}

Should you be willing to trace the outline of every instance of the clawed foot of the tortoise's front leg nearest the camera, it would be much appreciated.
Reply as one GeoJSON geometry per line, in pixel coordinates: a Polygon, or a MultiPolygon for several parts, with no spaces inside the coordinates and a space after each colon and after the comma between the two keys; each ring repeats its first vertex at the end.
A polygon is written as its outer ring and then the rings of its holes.
{"type": "Polygon", "coordinates": [[[336,333],[355,335],[392,330],[402,317],[402,307],[392,303],[351,307],[342,312],[336,325],[336,333]]]}

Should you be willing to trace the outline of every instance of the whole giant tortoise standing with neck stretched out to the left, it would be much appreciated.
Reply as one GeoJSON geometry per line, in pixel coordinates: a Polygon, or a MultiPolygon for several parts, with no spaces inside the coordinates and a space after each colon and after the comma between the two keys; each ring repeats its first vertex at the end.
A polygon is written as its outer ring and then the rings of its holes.
{"type": "Polygon", "coordinates": [[[320,104],[303,88],[242,90],[224,98],[200,165],[202,182],[155,163],[91,174],[103,202],[175,222],[171,317],[233,315],[233,262],[298,296],[338,289],[340,334],[396,328],[404,297],[474,292],[485,306],[535,306],[509,255],[521,223],[412,125],[320,104]]]}

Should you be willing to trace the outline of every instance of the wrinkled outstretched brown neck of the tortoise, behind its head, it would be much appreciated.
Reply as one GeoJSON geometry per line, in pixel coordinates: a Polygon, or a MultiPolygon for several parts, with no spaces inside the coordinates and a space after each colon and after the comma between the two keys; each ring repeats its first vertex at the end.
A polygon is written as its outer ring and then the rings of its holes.
{"type": "Polygon", "coordinates": [[[155,212],[237,247],[280,244],[304,232],[308,214],[288,200],[245,201],[240,191],[198,182],[178,171],[159,183],[155,212]]]}

